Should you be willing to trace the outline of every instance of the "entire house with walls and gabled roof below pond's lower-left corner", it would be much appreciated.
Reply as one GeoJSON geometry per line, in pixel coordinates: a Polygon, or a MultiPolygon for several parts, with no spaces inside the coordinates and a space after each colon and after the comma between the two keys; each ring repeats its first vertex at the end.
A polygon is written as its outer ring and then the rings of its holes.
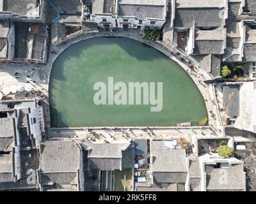
{"type": "Polygon", "coordinates": [[[44,142],[37,171],[41,191],[83,191],[83,156],[76,142],[44,142]]]}

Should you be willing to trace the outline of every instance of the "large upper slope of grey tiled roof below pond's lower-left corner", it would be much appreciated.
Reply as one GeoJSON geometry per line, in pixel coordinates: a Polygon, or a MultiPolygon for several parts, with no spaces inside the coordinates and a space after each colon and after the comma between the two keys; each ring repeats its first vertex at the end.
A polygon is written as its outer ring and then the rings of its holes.
{"type": "Polygon", "coordinates": [[[44,173],[76,172],[80,150],[75,142],[45,142],[42,144],[40,168],[44,173]]]}

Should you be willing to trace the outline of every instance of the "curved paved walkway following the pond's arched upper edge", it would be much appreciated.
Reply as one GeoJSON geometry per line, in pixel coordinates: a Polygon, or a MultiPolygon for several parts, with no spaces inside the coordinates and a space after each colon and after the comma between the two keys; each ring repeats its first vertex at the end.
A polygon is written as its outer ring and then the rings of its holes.
{"type": "MultiPolygon", "coordinates": [[[[70,40],[67,40],[63,43],[60,43],[59,45],[52,45],[49,55],[49,62],[47,64],[48,69],[45,72],[45,75],[47,76],[47,80],[49,83],[50,80],[50,74],[51,74],[51,68],[53,62],[56,60],[56,58],[70,45],[73,45],[74,43],[77,43],[82,40],[95,38],[95,37],[102,37],[102,36],[119,36],[119,37],[125,37],[125,38],[131,38],[133,40],[141,41],[147,45],[150,45],[151,47],[156,48],[163,54],[167,55],[173,61],[177,62],[193,79],[195,84],[197,85],[198,89],[200,89],[200,92],[202,93],[204,99],[205,99],[205,105],[207,107],[208,111],[208,117],[209,117],[209,126],[216,131],[218,135],[221,135],[221,118],[220,113],[218,112],[218,103],[216,103],[216,96],[214,91],[214,85],[206,85],[204,83],[204,80],[209,80],[211,77],[207,75],[207,73],[204,72],[202,69],[191,69],[189,68],[189,63],[193,61],[193,59],[189,59],[189,56],[184,54],[183,52],[180,52],[175,48],[174,45],[172,45],[170,42],[163,43],[163,42],[155,42],[155,41],[148,41],[140,36],[140,31],[121,31],[121,32],[106,32],[106,31],[100,31],[95,33],[82,33],[79,36],[74,36],[74,38],[71,38],[70,40]],[[53,54],[51,53],[53,52],[53,54]],[[173,52],[177,52],[177,54],[173,55],[173,52]],[[189,61],[189,62],[188,62],[189,61]]],[[[193,62],[193,65],[196,67],[196,62],[193,62]]]]}

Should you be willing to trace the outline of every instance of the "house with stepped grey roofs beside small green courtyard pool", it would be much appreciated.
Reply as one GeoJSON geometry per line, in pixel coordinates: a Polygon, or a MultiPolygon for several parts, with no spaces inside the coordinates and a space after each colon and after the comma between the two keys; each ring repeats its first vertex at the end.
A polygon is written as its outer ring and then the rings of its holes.
{"type": "Polygon", "coordinates": [[[85,164],[86,189],[90,189],[90,191],[115,191],[117,190],[115,189],[116,182],[120,182],[117,174],[123,174],[124,170],[129,169],[131,172],[129,177],[132,177],[134,147],[131,141],[127,143],[92,143],[86,141],[83,147],[87,154],[85,164]],[[94,189],[88,184],[93,184],[94,189]]]}

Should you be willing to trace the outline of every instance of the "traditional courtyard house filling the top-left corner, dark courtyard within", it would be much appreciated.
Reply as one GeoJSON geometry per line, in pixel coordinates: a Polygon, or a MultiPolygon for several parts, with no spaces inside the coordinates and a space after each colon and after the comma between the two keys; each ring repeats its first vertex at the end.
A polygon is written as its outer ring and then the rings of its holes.
{"type": "Polygon", "coordinates": [[[49,28],[42,23],[45,1],[0,1],[0,60],[46,63],[49,28]]]}

